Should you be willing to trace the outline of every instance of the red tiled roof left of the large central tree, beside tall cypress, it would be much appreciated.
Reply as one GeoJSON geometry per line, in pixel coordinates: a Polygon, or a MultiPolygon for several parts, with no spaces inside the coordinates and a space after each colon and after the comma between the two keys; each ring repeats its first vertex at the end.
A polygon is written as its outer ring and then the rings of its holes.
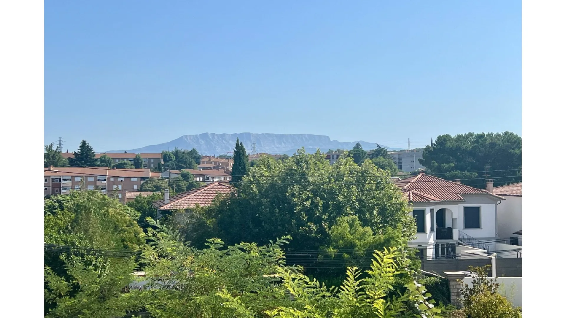
{"type": "Polygon", "coordinates": [[[235,188],[229,184],[213,182],[172,196],[168,204],[165,204],[164,200],[159,200],[153,202],[152,205],[159,210],[186,209],[195,207],[196,204],[201,207],[206,207],[212,204],[212,200],[215,199],[217,195],[228,195],[234,190],[235,188]]]}

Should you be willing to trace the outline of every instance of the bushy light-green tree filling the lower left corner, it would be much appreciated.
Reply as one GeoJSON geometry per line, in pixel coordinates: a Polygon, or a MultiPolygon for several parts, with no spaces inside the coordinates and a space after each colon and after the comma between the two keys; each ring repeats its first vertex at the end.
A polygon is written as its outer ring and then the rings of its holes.
{"type": "Polygon", "coordinates": [[[139,307],[122,293],[134,278],[132,252],[144,243],[138,217],[96,191],[45,200],[47,317],[121,317],[139,307]]]}

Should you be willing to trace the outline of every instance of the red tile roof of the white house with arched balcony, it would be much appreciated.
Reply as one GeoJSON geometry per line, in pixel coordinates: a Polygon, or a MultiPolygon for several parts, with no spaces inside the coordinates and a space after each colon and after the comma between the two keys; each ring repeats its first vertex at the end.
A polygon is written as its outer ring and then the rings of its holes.
{"type": "MultiPolygon", "coordinates": [[[[409,201],[413,202],[464,201],[463,194],[494,195],[486,190],[432,177],[432,175],[424,173],[402,179],[395,182],[395,184],[401,188],[401,191],[408,197],[409,201]]],[[[503,197],[500,197],[500,199],[503,199],[503,197]]]]}

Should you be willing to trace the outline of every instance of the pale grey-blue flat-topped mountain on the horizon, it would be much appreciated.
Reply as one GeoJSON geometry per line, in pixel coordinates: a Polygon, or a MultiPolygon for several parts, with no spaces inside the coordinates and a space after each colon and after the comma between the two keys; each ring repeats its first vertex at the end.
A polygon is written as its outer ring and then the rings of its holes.
{"type": "MultiPolygon", "coordinates": [[[[107,152],[128,152],[128,153],[157,153],[164,150],[196,148],[203,155],[218,155],[234,151],[236,138],[246,147],[247,153],[252,152],[252,144],[255,142],[256,152],[267,152],[271,154],[288,154],[289,156],[297,152],[297,149],[305,147],[307,153],[314,153],[316,149],[327,152],[328,149],[351,149],[356,143],[360,143],[363,149],[375,149],[376,143],[367,141],[346,141],[330,140],[329,136],[307,135],[307,134],[252,134],[242,132],[241,134],[209,134],[205,132],[200,135],[185,135],[171,140],[167,143],[149,145],[137,149],[112,150],[107,152]]],[[[385,145],[381,147],[390,150],[400,150],[401,148],[389,148],[385,145]]]]}

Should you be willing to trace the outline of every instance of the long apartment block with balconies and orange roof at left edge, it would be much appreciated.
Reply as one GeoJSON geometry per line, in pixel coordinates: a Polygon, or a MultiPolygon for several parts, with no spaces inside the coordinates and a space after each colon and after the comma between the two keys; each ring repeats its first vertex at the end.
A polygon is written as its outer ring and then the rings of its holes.
{"type": "Polygon", "coordinates": [[[160,178],[150,169],[107,167],[49,167],[44,170],[44,195],[70,194],[72,190],[100,190],[122,199],[126,191],[139,191],[149,178],[160,178]]]}

